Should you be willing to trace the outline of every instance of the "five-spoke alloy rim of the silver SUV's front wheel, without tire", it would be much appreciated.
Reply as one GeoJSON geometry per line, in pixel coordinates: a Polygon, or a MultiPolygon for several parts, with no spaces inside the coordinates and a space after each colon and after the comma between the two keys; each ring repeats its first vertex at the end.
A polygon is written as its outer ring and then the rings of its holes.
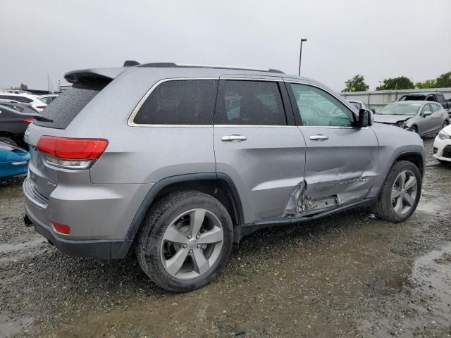
{"type": "Polygon", "coordinates": [[[395,213],[403,215],[414,207],[417,189],[418,182],[412,171],[404,170],[397,175],[391,195],[395,213]]]}

